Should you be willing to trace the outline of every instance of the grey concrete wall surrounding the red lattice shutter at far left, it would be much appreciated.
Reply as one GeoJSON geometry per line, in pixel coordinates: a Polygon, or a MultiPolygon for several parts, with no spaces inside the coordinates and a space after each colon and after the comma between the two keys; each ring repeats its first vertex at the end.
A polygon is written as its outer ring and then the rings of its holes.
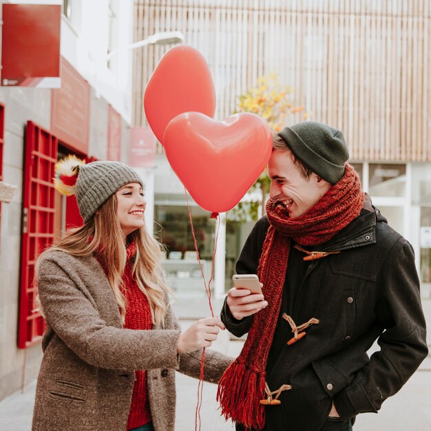
{"type": "Polygon", "coordinates": [[[41,346],[25,352],[17,348],[21,259],[21,207],[24,133],[27,120],[50,128],[51,91],[32,88],[0,88],[5,105],[3,180],[17,185],[9,204],[1,204],[0,227],[0,399],[36,377],[41,346]],[[25,366],[24,366],[25,365],[25,366]]]}

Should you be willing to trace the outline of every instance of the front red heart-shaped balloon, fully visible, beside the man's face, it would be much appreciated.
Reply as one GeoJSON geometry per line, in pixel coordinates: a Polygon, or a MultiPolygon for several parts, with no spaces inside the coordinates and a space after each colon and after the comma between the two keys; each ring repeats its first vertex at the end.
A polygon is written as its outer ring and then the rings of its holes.
{"type": "Polygon", "coordinates": [[[198,112],[171,120],[165,152],[172,169],[203,209],[214,213],[235,207],[268,163],[271,129],[255,114],[216,121],[198,112]]]}

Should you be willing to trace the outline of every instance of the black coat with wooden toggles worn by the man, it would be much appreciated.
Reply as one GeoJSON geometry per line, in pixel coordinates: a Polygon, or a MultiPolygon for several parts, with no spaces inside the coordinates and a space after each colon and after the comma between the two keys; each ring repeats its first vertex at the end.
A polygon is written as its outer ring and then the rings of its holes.
{"type": "MultiPolygon", "coordinates": [[[[238,274],[257,272],[268,229],[266,216],[255,224],[238,274]]],[[[369,197],[359,217],[318,247],[314,250],[340,253],[311,262],[295,248],[289,255],[266,382],[271,390],[284,383],[292,389],[280,394],[280,406],[266,407],[268,431],[321,430],[333,402],[341,421],[377,413],[428,354],[412,246],[388,226],[369,197]],[[311,317],[319,324],[288,346],[291,326],[282,313],[297,325],[311,317]],[[368,357],[376,339],[380,350],[368,357]]],[[[251,324],[250,317],[233,319],[226,302],[221,319],[238,337],[251,324]]]]}

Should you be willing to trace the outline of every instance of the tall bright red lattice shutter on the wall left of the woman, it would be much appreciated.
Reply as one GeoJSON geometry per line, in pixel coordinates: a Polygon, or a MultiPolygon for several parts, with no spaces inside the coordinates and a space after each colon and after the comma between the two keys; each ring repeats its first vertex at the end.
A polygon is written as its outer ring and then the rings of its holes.
{"type": "Polygon", "coordinates": [[[40,341],[45,329],[43,317],[33,311],[36,297],[33,278],[39,253],[54,240],[55,189],[52,178],[57,146],[55,136],[28,121],[23,181],[19,348],[40,341]]]}

